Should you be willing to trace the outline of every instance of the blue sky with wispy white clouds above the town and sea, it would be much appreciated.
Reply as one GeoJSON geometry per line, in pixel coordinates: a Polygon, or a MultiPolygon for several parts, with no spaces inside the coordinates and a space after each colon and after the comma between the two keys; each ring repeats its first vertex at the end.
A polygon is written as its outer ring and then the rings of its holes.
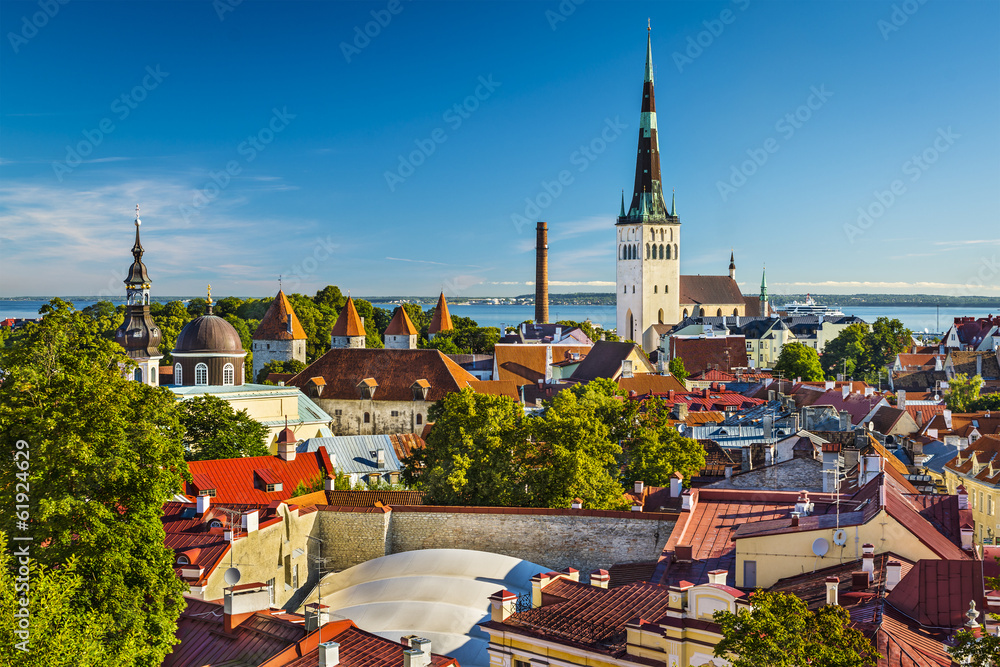
{"type": "Polygon", "coordinates": [[[0,296],[611,291],[647,18],[684,273],[1000,295],[1000,3],[234,3],[0,3],[0,296]]]}

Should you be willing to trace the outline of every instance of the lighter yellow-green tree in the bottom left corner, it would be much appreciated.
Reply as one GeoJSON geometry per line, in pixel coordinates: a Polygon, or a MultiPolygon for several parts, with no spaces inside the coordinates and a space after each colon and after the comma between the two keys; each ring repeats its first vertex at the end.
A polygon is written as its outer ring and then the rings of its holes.
{"type": "MultiPolygon", "coordinates": [[[[0,532],[0,664],[21,667],[112,667],[104,645],[104,625],[111,619],[80,607],[84,580],[70,558],[50,569],[30,560],[26,564],[28,591],[17,590],[14,558],[7,550],[7,536],[0,532]],[[30,615],[30,628],[22,630],[17,614],[22,596],[30,615]],[[23,650],[22,650],[23,649],[23,650]]],[[[23,543],[21,543],[23,545],[23,543]]],[[[22,566],[25,566],[22,564],[22,566]]]]}

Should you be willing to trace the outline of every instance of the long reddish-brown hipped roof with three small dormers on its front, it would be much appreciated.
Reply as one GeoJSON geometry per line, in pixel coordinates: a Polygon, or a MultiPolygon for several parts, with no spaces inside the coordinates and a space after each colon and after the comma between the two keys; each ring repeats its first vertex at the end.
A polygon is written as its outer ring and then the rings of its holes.
{"type": "Polygon", "coordinates": [[[374,400],[412,401],[413,383],[427,380],[427,401],[461,391],[476,380],[475,376],[441,354],[438,350],[368,350],[332,349],[288,381],[306,393],[313,378],[324,381],[321,400],[358,400],[357,385],[373,378],[378,383],[374,400]]]}

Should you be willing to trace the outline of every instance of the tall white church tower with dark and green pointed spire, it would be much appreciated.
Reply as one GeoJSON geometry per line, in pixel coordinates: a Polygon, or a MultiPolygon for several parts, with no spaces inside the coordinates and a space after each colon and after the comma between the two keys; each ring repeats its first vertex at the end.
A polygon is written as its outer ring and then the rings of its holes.
{"type": "Polygon", "coordinates": [[[667,208],[660,180],[660,145],[653,96],[653,55],[647,29],[646,77],[642,85],[639,150],[632,203],[615,225],[618,248],[618,335],[642,343],[647,352],[659,344],[654,324],[680,321],[681,223],[675,202],[667,208]]]}

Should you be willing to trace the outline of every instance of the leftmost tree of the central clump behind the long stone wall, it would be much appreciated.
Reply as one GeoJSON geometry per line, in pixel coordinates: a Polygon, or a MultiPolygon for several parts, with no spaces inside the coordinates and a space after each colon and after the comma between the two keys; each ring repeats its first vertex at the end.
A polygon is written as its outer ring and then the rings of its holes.
{"type": "Polygon", "coordinates": [[[426,446],[403,461],[404,482],[430,504],[522,504],[522,415],[505,396],[447,394],[428,411],[434,428],[426,446]]]}

